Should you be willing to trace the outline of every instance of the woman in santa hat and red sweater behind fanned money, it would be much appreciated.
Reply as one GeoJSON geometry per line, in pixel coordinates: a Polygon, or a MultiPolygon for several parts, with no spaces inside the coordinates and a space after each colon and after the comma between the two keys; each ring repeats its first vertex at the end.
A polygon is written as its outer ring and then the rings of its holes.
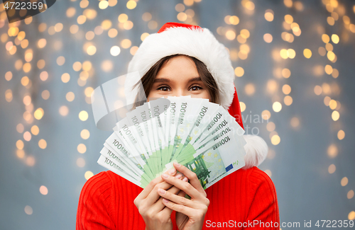
{"type": "MultiPolygon", "coordinates": [[[[228,52],[206,28],[165,23],[142,42],[132,71],[143,74],[147,98],[208,98],[243,127],[228,52]]],[[[176,163],[143,190],[111,171],[93,176],[82,188],[77,229],[279,229],[275,186],[256,168],[267,146],[259,137],[246,140],[246,166],[207,190],[176,163]]]]}

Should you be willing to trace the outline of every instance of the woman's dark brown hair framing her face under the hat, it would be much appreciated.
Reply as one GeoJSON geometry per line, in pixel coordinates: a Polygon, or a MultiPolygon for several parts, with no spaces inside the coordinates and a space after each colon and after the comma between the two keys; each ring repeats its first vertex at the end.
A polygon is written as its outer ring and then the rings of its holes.
{"type": "MultiPolygon", "coordinates": [[[[173,54],[170,56],[163,57],[160,59],[158,62],[156,62],[151,69],[149,69],[146,74],[141,79],[144,93],[146,94],[146,98],[148,98],[149,93],[151,92],[151,88],[153,87],[153,83],[155,80],[155,77],[158,74],[158,71],[164,66],[165,63],[169,61],[172,57],[176,57],[179,55],[184,55],[186,57],[190,57],[185,54],[173,54]]],[[[212,103],[219,103],[219,93],[218,93],[218,86],[216,81],[214,81],[214,78],[211,73],[209,73],[206,65],[201,62],[199,59],[195,57],[190,57],[195,62],[197,72],[200,75],[200,78],[202,82],[206,85],[207,90],[209,92],[209,95],[211,96],[211,102],[212,103]]]]}

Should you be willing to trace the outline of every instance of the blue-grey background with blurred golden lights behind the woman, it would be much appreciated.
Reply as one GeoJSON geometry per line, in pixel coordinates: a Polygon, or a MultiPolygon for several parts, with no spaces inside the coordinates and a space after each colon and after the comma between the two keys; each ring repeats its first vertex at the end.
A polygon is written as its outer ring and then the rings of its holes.
{"type": "Polygon", "coordinates": [[[345,0],[59,0],[9,25],[1,4],[1,229],[75,228],[109,136],[89,96],[168,21],[228,48],[246,131],[270,147],[259,168],[280,221],[354,219],[354,13],[345,0]]]}

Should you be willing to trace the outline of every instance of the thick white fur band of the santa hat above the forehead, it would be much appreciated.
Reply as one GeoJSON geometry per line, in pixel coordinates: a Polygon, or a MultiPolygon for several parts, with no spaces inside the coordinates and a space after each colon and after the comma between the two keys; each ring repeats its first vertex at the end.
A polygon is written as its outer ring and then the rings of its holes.
{"type": "Polygon", "coordinates": [[[173,54],[195,57],[207,66],[219,88],[219,104],[228,110],[234,96],[234,69],[226,48],[207,28],[174,27],[149,35],[129,62],[128,72],[139,71],[142,77],[160,59],[173,54]]]}

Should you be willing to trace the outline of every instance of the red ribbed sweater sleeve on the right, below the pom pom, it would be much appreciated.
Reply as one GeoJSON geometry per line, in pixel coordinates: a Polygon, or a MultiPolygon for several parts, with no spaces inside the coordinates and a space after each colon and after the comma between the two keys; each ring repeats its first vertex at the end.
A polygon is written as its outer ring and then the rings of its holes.
{"type": "Polygon", "coordinates": [[[244,229],[280,229],[278,200],[273,181],[258,168],[249,176],[250,208],[246,218],[248,224],[244,229]]]}

